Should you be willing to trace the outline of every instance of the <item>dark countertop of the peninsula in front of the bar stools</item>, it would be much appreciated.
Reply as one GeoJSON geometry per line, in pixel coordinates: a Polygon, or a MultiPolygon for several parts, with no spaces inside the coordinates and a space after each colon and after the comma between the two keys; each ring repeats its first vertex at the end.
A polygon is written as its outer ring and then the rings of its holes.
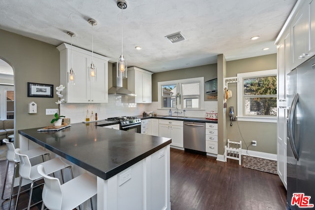
{"type": "Polygon", "coordinates": [[[171,139],[103,128],[98,121],[74,123],[60,131],[19,130],[19,134],[83,169],[108,179],[171,143],[171,139]]]}

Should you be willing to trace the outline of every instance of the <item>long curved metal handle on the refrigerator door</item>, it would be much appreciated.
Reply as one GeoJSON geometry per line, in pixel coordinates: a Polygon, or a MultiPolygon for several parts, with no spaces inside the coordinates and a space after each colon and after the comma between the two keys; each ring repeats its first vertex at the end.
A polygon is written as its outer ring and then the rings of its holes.
{"type": "Polygon", "coordinates": [[[295,140],[294,140],[294,128],[293,128],[293,117],[294,117],[294,112],[297,106],[297,103],[299,101],[299,94],[296,93],[294,94],[293,100],[292,100],[292,104],[290,106],[289,109],[289,118],[288,118],[288,126],[289,126],[289,140],[290,140],[290,144],[291,144],[291,148],[294,154],[295,159],[299,160],[299,154],[296,148],[296,144],[295,144],[295,140]]]}

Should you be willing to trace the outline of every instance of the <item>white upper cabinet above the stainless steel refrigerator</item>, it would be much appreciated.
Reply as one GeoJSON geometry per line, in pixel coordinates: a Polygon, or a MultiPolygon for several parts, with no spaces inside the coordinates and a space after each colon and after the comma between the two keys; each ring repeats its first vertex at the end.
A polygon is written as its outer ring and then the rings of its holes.
{"type": "Polygon", "coordinates": [[[315,55],[315,0],[301,1],[291,22],[291,69],[315,55]]]}

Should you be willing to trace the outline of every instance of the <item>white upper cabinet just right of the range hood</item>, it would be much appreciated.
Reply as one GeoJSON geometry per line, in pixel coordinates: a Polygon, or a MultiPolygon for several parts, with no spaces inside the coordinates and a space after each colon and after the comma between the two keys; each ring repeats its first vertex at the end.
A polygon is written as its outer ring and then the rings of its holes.
{"type": "Polygon", "coordinates": [[[128,90],[134,92],[135,103],[152,103],[152,72],[128,68],[128,90]]]}

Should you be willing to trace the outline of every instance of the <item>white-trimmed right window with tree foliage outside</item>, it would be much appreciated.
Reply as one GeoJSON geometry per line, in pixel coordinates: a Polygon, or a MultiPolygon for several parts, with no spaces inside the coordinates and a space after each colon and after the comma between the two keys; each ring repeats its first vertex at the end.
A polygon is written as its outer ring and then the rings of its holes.
{"type": "Polygon", "coordinates": [[[237,119],[277,122],[277,70],[238,73],[237,119]]]}

